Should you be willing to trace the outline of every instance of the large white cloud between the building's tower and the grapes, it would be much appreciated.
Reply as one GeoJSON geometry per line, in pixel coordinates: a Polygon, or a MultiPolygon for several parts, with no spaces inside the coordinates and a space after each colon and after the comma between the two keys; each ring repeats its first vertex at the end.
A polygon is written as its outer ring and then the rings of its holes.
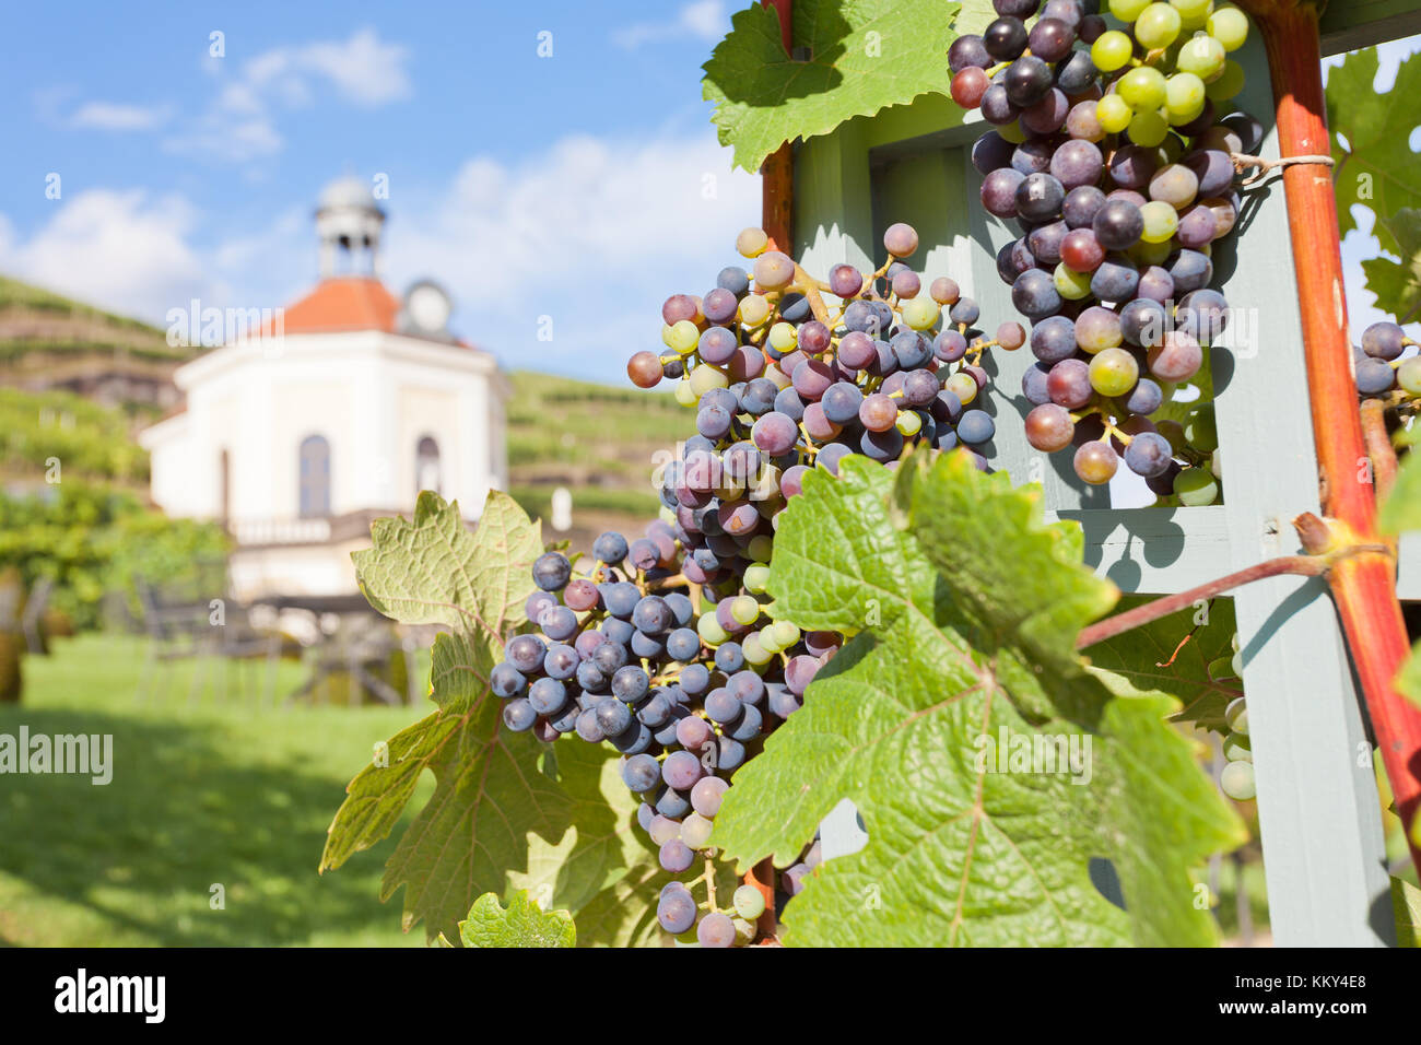
{"type": "Polygon", "coordinates": [[[715,135],[568,136],[517,164],[469,159],[432,208],[391,199],[391,286],[449,287],[456,328],[512,367],[620,380],[659,344],[661,303],[705,293],[759,220],[759,181],[715,135]],[[539,317],[553,340],[539,341],[539,317]]]}

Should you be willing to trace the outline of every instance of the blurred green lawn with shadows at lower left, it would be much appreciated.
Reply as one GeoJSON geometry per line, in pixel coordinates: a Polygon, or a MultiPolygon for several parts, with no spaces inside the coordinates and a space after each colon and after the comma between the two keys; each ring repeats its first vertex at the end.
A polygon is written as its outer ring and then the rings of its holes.
{"type": "MultiPolygon", "coordinates": [[[[230,682],[219,704],[210,668],[189,702],[183,664],[139,704],[144,648],[60,640],[26,658],[24,702],[0,705],[0,734],[112,734],[115,766],[107,786],[0,776],[0,944],[422,945],[421,928],[399,931],[402,894],[378,899],[394,839],[324,876],[315,866],[347,781],[426,708],[257,707],[230,682]]],[[[283,664],[277,692],[301,677],[283,664]]]]}

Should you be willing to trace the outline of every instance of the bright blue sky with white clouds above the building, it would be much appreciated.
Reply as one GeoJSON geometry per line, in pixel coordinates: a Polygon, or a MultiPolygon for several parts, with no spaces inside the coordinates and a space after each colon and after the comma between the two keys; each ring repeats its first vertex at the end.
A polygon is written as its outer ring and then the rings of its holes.
{"type": "MultiPolygon", "coordinates": [[[[394,290],[445,283],[456,331],[506,365],[622,381],[659,301],[759,220],[701,100],[733,6],[14,6],[0,272],[158,323],[190,297],[284,304],[317,276],[321,186],[384,173],[394,290]]],[[[1384,50],[1378,85],[1412,50],[1384,50]]],[[[1357,330],[1374,250],[1344,243],[1357,330]]]]}

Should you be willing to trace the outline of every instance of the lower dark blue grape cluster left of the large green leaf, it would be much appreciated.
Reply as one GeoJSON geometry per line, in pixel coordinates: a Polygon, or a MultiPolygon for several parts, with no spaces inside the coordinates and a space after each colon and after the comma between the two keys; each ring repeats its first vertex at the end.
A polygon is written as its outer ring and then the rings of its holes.
{"type": "MultiPolygon", "coordinates": [[[[733,552],[722,545],[733,566],[709,572],[705,556],[699,566],[692,557],[692,543],[688,532],[658,519],[631,542],[601,535],[590,570],[546,552],[533,563],[539,590],[524,607],[539,630],[510,638],[489,680],[506,701],[506,728],[533,731],[544,742],[576,734],[622,754],[622,782],[642,799],[638,823],[672,874],[691,870],[706,852],[730,773],[800,708],[810,680],[841,643],[834,633],[801,636],[764,617],[767,567],[747,557],[750,542],[733,552]],[[705,580],[691,582],[688,569],[705,580]]],[[[753,554],[767,557],[766,542],[753,554]]],[[[735,901],[736,911],[755,906],[750,894],[763,910],[752,887],[735,901]]],[[[658,910],[668,931],[695,926],[709,947],[755,937],[752,916],[710,910],[696,924],[692,903],[691,924],[682,924],[684,910],[682,893],[668,887],[658,910]]]]}

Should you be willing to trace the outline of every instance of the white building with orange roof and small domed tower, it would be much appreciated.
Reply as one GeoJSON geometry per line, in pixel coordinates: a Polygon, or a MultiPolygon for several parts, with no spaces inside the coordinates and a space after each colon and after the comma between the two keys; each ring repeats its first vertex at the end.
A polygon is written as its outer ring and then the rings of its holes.
{"type": "Polygon", "coordinates": [[[227,525],[239,597],[355,593],[372,519],[409,516],[422,489],[473,519],[507,485],[507,384],[448,333],[438,286],[401,301],[379,282],[384,220],[358,179],[327,186],[321,282],[261,337],[180,367],[183,409],[139,436],[153,502],[227,525]]]}

